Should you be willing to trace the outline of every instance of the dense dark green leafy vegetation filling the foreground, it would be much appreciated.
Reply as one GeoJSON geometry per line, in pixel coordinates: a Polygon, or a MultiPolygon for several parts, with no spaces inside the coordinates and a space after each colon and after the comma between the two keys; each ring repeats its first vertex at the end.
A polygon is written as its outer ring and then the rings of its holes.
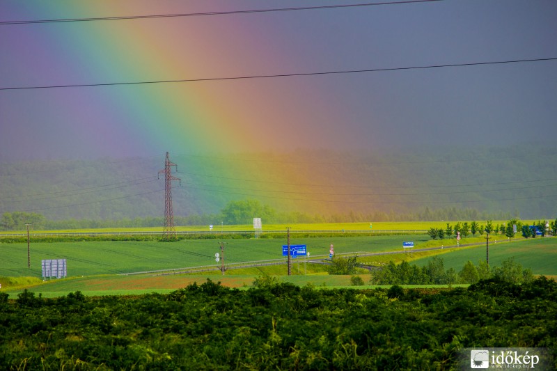
{"type": "Polygon", "coordinates": [[[557,283],[544,277],[452,290],[261,277],[244,291],[207,280],[139,297],[23,292],[0,294],[0,313],[3,370],[448,370],[463,347],[557,347],[557,283]]]}

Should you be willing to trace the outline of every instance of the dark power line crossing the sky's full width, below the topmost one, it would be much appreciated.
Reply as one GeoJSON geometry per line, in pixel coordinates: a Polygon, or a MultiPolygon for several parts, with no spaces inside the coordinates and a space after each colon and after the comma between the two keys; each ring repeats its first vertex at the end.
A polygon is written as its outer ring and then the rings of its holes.
{"type": "Polygon", "coordinates": [[[236,76],[236,77],[209,77],[206,79],[175,79],[175,80],[157,80],[157,81],[127,81],[127,82],[110,82],[97,84],[68,84],[68,85],[44,85],[44,86],[19,86],[14,88],[0,88],[0,90],[33,90],[33,89],[52,89],[52,88],[90,88],[95,86],[124,86],[124,85],[146,85],[146,84],[171,84],[171,83],[187,83],[187,82],[207,82],[207,81],[229,81],[229,80],[247,80],[247,79],[271,79],[277,77],[305,77],[320,76],[329,74],[352,74],[364,72],[389,72],[403,70],[425,70],[431,68],[450,68],[450,67],[469,67],[474,65],[501,65],[509,63],[528,63],[542,61],[557,61],[557,58],[532,58],[532,59],[516,59],[512,61],[494,61],[494,62],[474,62],[474,63],[453,63],[446,65],[421,65],[412,67],[395,67],[395,68],[372,68],[369,70],[337,70],[325,72],[301,72],[289,74],[260,74],[252,76],[236,76]]]}

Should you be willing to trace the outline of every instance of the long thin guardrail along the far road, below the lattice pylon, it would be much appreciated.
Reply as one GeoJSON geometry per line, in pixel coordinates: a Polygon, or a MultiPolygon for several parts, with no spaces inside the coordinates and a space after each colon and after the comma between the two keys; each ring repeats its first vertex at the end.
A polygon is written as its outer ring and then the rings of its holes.
{"type": "MultiPolygon", "coordinates": [[[[398,229],[384,229],[384,230],[290,230],[290,234],[295,233],[425,233],[427,230],[398,230],[398,229]]],[[[34,232],[30,233],[30,237],[61,237],[61,236],[147,236],[147,235],[164,235],[162,231],[130,231],[130,232],[34,232]]],[[[176,235],[255,235],[255,230],[229,230],[229,231],[214,231],[214,230],[180,230],[176,231],[176,235]]],[[[258,235],[265,233],[286,235],[285,230],[262,230],[258,231],[258,235]]],[[[0,237],[27,237],[27,233],[0,233],[0,237]]]]}

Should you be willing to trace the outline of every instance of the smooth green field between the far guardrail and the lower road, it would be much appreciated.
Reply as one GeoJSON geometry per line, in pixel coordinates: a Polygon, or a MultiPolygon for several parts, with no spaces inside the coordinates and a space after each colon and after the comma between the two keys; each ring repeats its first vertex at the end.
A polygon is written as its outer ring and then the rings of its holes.
{"type": "MultiPolygon", "coordinates": [[[[402,242],[416,246],[427,242],[427,235],[315,237],[290,239],[291,244],[306,244],[312,257],[329,254],[379,252],[402,249],[402,242]]],[[[253,262],[282,259],[285,239],[224,239],[225,262],[253,262]]],[[[186,239],[178,242],[54,242],[31,244],[31,269],[27,267],[27,244],[0,244],[0,276],[41,276],[41,260],[67,259],[68,276],[126,274],[160,269],[180,269],[217,265],[214,254],[220,242],[214,239],[186,239]]]]}

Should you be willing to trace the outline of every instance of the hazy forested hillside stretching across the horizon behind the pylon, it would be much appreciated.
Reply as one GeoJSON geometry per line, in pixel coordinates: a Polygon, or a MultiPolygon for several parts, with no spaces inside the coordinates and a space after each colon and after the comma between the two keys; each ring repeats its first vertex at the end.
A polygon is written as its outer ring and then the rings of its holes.
{"type": "MultiPolygon", "coordinates": [[[[556,160],[557,148],[540,145],[171,154],[173,212],[177,225],[230,222],[226,207],[250,202],[267,223],[552,219],[556,160]]],[[[52,228],[160,226],[162,168],[164,155],[3,163],[0,215],[38,214],[52,228]]]]}

